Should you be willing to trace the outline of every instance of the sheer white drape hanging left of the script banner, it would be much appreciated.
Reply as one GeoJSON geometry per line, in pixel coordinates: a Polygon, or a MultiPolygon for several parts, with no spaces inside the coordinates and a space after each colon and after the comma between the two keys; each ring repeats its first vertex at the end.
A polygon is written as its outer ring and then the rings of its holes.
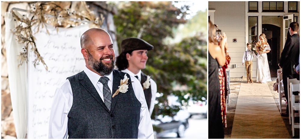
{"type": "Polygon", "coordinates": [[[5,48],[8,69],[8,82],[11,91],[11,105],[14,110],[14,123],[17,138],[25,138],[27,129],[27,66],[20,65],[17,56],[23,44],[16,42],[16,36],[11,31],[17,25],[10,12],[5,13],[5,48]]]}

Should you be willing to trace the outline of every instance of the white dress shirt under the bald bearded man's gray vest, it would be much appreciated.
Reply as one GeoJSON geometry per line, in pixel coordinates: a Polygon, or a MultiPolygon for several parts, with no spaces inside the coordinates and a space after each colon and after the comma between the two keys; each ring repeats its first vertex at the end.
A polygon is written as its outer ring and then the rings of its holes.
{"type": "MultiPolygon", "coordinates": [[[[87,67],[84,67],[84,72],[91,80],[95,89],[97,90],[102,101],[104,101],[103,84],[98,80],[100,75],[92,72],[87,67]]],[[[110,75],[105,75],[109,78],[108,86],[112,92],[113,88],[113,72],[110,75]]],[[[140,82],[134,76],[131,76],[132,87],[134,89],[135,96],[141,103],[140,109],[140,123],[138,126],[138,138],[154,138],[154,131],[151,123],[151,117],[147,111],[147,103],[144,97],[143,88],[140,82]]],[[[115,92],[115,91],[114,91],[115,92]]],[[[67,79],[61,88],[57,88],[54,94],[53,103],[50,112],[49,121],[49,134],[48,138],[67,138],[68,135],[68,113],[72,107],[73,94],[70,81],[67,79]]]]}

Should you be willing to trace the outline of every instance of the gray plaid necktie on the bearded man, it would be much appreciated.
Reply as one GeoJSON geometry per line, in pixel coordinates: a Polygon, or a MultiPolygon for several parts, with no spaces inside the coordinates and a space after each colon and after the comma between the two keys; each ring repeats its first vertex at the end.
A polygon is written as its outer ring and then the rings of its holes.
{"type": "Polygon", "coordinates": [[[104,104],[106,107],[111,111],[111,103],[112,103],[112,93],[108,86],[109,78],[107,77],[101,77],[99,80],[104,86],[103,86],[103,94],[104,94],[104,104]]]}

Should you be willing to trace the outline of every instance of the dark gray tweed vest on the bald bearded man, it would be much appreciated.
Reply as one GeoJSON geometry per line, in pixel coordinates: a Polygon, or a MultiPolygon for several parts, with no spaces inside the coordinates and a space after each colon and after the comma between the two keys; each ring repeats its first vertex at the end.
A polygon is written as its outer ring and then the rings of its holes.
{"type": "MultiPolygon", "coordinates": [[[[118,89],[125,74],[113,70],[112,93],[118,89]]],[[[130,78],[129,74],[126,75],[130,78]]],[[[68,114],[69,138],[138,138],[141,103],[135,96],[132,83],[126,93],[112,98],[109,111],[85,72],[67,79],[73,93],[68,114]]]]}

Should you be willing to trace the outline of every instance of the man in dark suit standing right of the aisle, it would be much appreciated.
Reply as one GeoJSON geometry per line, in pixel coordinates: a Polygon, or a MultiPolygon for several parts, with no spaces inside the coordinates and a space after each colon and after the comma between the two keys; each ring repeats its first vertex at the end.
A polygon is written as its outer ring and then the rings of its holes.
{"type": "MultiPolygon", "coordinates": [[[[297,22],[290,23],[289,32],[291,37],[287,38],[279,60],[279,66],[282,68],[284,94],[286,100],[288,100],[287,78],[300,79],[294,68],[294,65],[298,65],[299,63],[298,59],[300,54],[300,37],[298,35],[298,30],[299,24],[297,22]]],[[[286,108],[286,113],[282,113],[281,116],[288,116],[288,106],[286,108]]]]}

